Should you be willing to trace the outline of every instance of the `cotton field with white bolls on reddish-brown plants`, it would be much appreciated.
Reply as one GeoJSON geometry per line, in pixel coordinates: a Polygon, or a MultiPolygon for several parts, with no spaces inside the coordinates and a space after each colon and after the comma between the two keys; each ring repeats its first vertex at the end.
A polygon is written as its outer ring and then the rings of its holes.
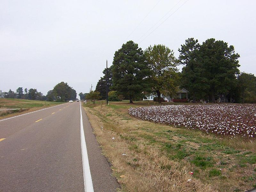
{"type": "Polygon", "coordinates": [[[256,137],[255,104],[162,105],[130,108],[142,120],[229,137],[256,137]]]}

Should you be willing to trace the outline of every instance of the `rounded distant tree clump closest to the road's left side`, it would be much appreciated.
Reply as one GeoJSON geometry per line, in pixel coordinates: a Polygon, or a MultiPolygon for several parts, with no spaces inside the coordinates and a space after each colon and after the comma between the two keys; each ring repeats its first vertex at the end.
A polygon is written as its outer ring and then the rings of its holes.
{"type": "Polygon", "coordinates": [[[64,83],[63,81],[55,85],[52,91],[57,101],[76,100],[76,90],[72,89],[68,83],[64,83]]]}

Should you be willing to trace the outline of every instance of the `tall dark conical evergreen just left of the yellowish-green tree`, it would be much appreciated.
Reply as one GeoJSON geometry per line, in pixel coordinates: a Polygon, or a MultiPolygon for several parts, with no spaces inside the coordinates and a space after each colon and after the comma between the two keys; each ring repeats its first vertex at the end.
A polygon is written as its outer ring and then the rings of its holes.
{"type": "Polygon", "coordinates": [[[143,98],[142,92],[149,90],[148,69],[145,56],[138,44],[128,41],[115,52],[113,61],[113,90],[127,96],[130,103],[143,98]]]}

